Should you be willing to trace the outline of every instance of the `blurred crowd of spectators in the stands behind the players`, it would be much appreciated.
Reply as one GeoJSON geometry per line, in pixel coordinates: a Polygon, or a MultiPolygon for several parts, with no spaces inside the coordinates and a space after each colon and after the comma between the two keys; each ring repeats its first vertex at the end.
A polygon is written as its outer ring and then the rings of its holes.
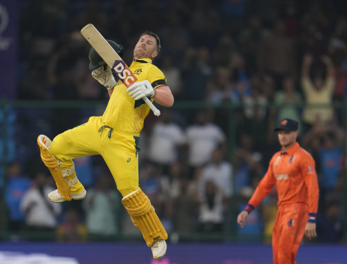
{"type": "MultiPolygon", "coordinates": [[[[90,45],[81,28],[94,23],[107,39],[122,44],[128,64],[139,34],[158,33],[162,50],[154,64],[167,77],[176,103],[191,103],[162,109],[158,118],[149,114],[140,135],[140,187],[171,238],[230,231],[239,240],[269,241],[275,190],[243,229],[236,226],[235,212],[244,208],[280,150],[273,128],[287,117],[299,121],[298,141],[316,161],[317,241],[342,241],[343,1],[19,2],[18,99],[107,102],[107,91],[88,69],[90,45]]],[[[1,210],[8,212],[10,230],[54,230],[60,241],[138,234],[98,156],[74,161],[87,187],[83,201],[46,199],[54,182],[35,147],[36,136],[54,137],[104,108],[8,109],[7,208],[1,210]]]]}

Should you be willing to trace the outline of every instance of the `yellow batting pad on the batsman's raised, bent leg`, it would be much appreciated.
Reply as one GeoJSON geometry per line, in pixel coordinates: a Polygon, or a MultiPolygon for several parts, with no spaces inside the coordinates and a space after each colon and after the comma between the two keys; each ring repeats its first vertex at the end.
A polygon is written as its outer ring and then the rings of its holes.
{"type": "Polygon", "coordinates": [[[41,134],[37,137],[37,143],[41,151],[41,159],[50,170],[61,196],[63,196],[63,199],[66,201],[71,201],[72,198],[69,184],[67,183],[67,180],[64,179],[63,173],[59,168],[58,161],[54,159],[54,156],[52,156],[49,150],[52,141],[48,139],[48,136],[41,134]]]}

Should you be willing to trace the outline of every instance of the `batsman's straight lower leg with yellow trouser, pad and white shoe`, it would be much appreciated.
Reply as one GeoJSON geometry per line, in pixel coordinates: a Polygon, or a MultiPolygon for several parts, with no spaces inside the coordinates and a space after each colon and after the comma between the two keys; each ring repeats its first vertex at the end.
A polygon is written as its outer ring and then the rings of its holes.
{"type": "Polygon", "coordinates": [[[132,222],[142,232],[154,258],[162,258],[167,250],[167,232],[147,195],[138,186],[137,139],[114,132],[112,139],[105,139],[109,143],[104,144],[101,155],[114,176],[132,222]]]}

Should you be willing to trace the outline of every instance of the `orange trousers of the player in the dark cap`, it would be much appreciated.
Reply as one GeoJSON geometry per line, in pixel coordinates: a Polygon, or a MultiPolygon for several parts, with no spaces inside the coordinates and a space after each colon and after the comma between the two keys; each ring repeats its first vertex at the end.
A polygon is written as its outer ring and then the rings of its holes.
{"type": "MultiPolygon", "coordinates": [[[[294,264],[295,254],[293,250],[302,229],[303,210],[306,205],[285,205],[282,217],[282,234],[277,246],[277,261],[281,264],[294,264]]],[[[298,247],[297,247],[298,248],[298,247]]]]}

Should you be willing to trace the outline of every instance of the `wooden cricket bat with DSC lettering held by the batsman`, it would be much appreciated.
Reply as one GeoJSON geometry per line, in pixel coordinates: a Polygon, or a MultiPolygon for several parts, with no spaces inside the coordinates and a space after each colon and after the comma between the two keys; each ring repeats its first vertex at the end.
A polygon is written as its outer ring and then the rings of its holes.
{"type": "MultiPolygon", "coordinates": [[[[93,24],[87,24],[87,26],[81,29],[81,34],[92,45],[92,47],[98,52],[101,58],[109,66],[109,68],[116,74],[116,79],[120,79],[126,88],[129,88],[132,84],[136,83],[137,78],[129,69],[127,64],[123,61],[118,53],[112,48],[106,41],[103,35],[98,32],[93,24]]],[[[118,81],[118,80],[116,80],[118,81]]],[[[143,101],[147,103],[149,108],[154,112],[154,115],[159,116],[160,110],[147,98],[143,97],[143,101]]]]}

